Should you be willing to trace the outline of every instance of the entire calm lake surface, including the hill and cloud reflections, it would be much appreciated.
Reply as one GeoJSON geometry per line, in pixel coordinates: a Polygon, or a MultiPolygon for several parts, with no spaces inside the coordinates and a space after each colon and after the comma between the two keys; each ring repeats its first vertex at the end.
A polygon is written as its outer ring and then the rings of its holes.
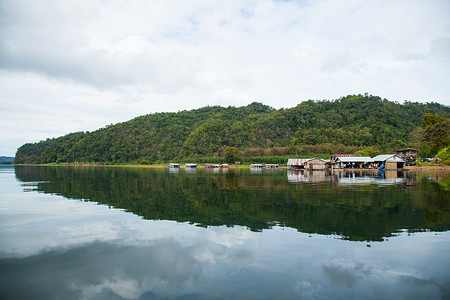
{"type": "Polygon", "coordinates": [[[0,299],[449,299],[450,177],[0,167],[0,299]]]}

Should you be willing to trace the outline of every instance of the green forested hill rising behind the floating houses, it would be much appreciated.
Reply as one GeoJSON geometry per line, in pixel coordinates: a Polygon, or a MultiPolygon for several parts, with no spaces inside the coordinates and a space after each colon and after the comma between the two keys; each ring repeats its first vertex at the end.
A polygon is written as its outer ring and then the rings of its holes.
{"type": "Polygon", "coordinates": [[[241,153],[275,148],[284,149],[283,154],[295,154],[305,145],[315,145],[318,152],[367,146],[392,151],[411,146],[412,132],[427,113],[449,118],[450,107],[400,104],[372,95],[309,100],[279,110],[260,103],[208,106],[149,114],[94,132],[25,144],[18,149],[15,163],[153,163],[223,156],[227,146],[237,147],[241,153]]]}

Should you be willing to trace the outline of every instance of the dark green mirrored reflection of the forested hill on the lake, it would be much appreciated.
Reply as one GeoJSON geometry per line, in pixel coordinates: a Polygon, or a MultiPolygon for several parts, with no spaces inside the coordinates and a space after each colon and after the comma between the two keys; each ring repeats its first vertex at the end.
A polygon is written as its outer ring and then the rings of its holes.
{"type": "Polygon", "coordinates": [[[24,188],[198,226],[274,224],[383,241],[404,230],[449,229],[439,174],[16,166],[24,188]]]}

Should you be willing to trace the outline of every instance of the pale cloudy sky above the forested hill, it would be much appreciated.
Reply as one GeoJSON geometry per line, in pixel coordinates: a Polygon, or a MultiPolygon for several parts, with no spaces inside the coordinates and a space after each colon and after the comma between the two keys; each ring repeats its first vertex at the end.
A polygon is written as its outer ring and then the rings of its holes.
{"type": "Polygon", "coordinates": [[[448,0],[0,0],[0,156],[207,105],[450,105],[448,0]]]}

